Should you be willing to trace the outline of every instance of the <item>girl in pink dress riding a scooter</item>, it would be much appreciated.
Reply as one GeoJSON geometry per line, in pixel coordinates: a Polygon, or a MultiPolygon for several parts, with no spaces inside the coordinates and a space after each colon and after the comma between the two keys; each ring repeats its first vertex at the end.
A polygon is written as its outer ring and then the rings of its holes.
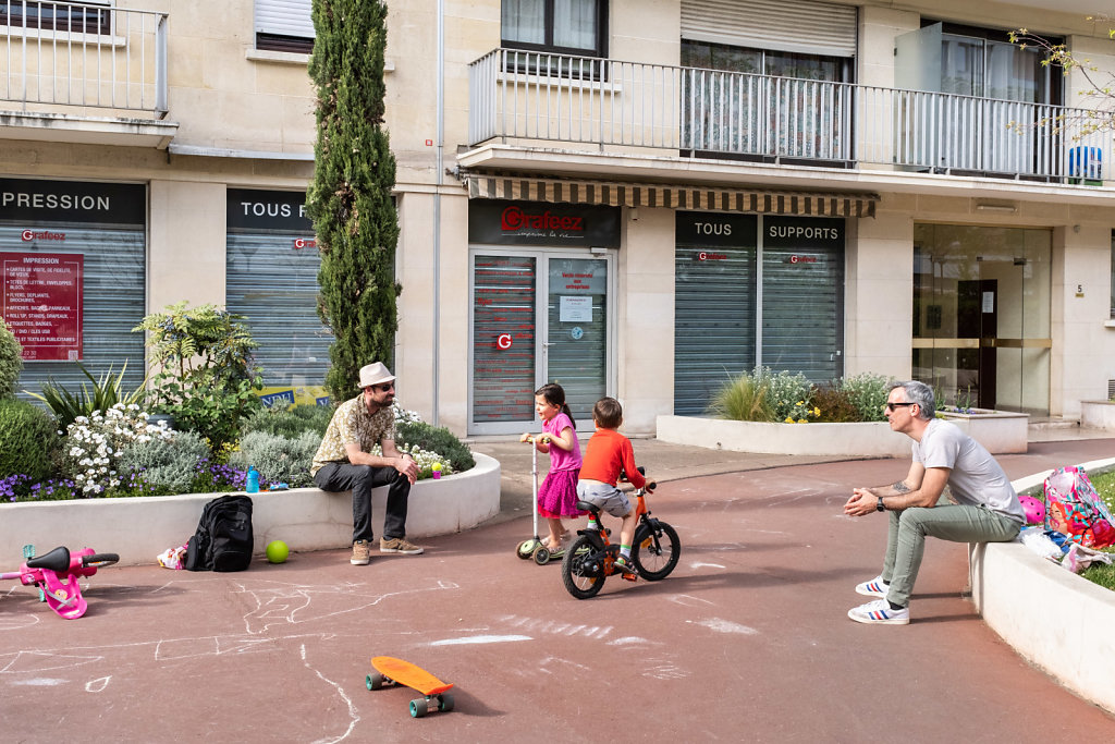
{"type": "MultiPolygon", "coordinates": [[[[563,549],[563,542],[570,534],[562,524],[562,518],[584,514],[576,508],[581,444],[576,439],[576,427],[565,405],[565,390],[561,385],[550,383],[535,390],[534,410],[542,419],[542,434],[534,437],[534,446],[539,452],[550,453],[550,472],[539,489],[537,509],[550,524],[550,539],[544,544],[553,553],[563,549]]],[[[527,442],[530,438],[530,434],[524,434],[520,441],[527,442]]]]}

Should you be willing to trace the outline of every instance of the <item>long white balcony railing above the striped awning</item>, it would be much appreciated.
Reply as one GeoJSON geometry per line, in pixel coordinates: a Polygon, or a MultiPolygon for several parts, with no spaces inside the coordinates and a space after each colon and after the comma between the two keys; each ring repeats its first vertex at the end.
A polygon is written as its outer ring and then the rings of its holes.
{"type": "MultiPolygon", "coordinates": [[[[469,142],[1094,182],[1102,114],[1061,106],[497,49],[469,70],[469,142]]],[[[1111,167],[1111,165],[1108,165],[1111,167]]],[[[1106,176],[1109,177],[1109,176],[1106,176]]]]}

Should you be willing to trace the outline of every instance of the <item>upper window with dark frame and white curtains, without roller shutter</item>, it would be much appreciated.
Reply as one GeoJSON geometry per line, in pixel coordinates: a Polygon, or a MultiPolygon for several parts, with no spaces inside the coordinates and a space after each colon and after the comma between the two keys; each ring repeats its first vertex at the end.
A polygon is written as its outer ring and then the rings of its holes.
{"type": "Polygon", "coordinates": [[[607,57],[607,0],[503,0],[503,46],[607,57]]]}

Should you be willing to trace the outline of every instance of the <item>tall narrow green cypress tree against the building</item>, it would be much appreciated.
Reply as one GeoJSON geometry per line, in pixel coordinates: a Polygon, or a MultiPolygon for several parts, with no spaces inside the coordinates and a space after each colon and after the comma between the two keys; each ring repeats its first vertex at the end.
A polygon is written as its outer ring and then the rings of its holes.
{"type": "Polygon", "coordinates": [[[333,403],[355,395],[359,369],[394,368],[398,219],[395,157],[384,126],[382,0],[313,0],[318,139],[307,209],[321,270],[318,315],[332,330],[326,387],[333,403]]]}

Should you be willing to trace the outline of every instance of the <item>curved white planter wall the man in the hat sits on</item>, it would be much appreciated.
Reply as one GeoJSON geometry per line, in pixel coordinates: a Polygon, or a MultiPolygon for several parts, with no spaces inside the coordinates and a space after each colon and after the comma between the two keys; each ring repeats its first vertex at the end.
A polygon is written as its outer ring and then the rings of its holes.
{"type": "MultiPolygon", "coordinates": [[[[474,454],[476,467],[410,487],[407,537],[427,538],[474,528],[500,513],[500,463],[474,454]]],[[[119,553],[120,563],[153,563],[197,529],[207,501],[221,494],[195,493],[148,499],[89,499],[0,505],[0,545],[89,545],[119,553]]],[[[372,524],[380,534],[387,487],[372,493],[372,524]]],[[[272,540],[291,550],[329,550],[352,544],[352,497],[320,489],[292,489],[252,496],[255,551],[272,540]]],[[[11,555],[8,557],[9,559],[11,555]]]]}

